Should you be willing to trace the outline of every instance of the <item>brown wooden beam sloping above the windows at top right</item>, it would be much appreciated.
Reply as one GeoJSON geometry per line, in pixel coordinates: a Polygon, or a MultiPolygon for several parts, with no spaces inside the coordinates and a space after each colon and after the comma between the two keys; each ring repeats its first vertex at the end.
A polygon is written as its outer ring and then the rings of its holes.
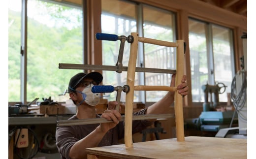
{"type": "Polygon", "coordinates": [[[239,27],[247,30],[247,17],[201,0],[134,0],[166,10],[186,10],[192,18],[219,24],[225,27],[239,27]]]}

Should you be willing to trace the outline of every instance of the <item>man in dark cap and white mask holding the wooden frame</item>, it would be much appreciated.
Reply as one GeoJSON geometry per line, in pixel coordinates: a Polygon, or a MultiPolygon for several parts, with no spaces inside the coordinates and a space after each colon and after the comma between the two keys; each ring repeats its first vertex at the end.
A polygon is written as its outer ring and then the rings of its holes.
{"type": "MultiPolygon", "coordinates": [[[[98,72],[78,73],[70,79],[68,93],[77,105],[77,112],[69,120],[105,118],[113,122],[57,127],[56,145],[62,159],[86,159],[86,148],[115,145],[118,144],[119,139],[124,138],[124,122],[119,122],[121,114],[115,110],[117,101],[110,101],[107,110],[101,116],[96,114],[99,95],[93,94],[91,88],[94,85],[99,85],[102,79],[102,75],[98,72]]],[[[186,76],[183,76],[181,84],[177,87],[178,93],[181,95],[188,94],[188,86],[185,81],[186,76]]],[[[175,86],[175,74],[172,75],[171,86],[175,86]]],[[[174,92],[168,92],[158,102],[133,115],[164,114],[173,102],[174,92]]],[[[140,132],[152,124],[152,120],[133,121],[132,133],[140,132]]]]}

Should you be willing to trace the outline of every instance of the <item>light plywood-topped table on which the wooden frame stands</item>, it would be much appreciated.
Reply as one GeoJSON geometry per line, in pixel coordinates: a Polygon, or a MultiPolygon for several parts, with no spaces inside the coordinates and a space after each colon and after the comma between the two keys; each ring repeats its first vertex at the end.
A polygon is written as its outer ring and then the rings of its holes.
{"type": "Polygon", "coordinates": [[[86,149],[88,159],[247,159],[247,140],[188,136],[86,149]]]}

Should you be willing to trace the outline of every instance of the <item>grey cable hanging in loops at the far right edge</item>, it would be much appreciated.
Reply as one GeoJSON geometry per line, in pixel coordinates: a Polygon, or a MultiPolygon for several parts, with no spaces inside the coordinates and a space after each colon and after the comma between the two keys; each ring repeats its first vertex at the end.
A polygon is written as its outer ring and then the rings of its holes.
{"type": "Polygon", "coordinates": [[[239,112],[245,105],[246,99],[247,99],[247,78],[246,78],[246,73],[244,69],[242,71],[239,71],[237,74],[240,74],[242,76],[242,86],[240,92],[237,92],[236,90],[236,76],[233,78],[232,83],[231,83],[231,99],[233,100],[233,104],[235,107],[235,111],[233,113],[233,117],[231,119],[229,127],[232,126],[233,120],[235,113],[244,121],[247,121],[246,118],[242,116],[242,114],[239,112]]]}

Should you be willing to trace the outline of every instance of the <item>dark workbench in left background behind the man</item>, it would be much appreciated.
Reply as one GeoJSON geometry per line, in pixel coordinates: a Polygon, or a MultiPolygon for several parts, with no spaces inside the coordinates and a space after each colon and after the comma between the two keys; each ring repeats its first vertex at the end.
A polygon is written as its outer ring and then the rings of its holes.
{"type": "MultiPolygon", "coordinates": [[[[67,120],[72,115],[52,115],[45,117],[44,114],[24,114],[12,115],[8,117],[8,131],[14,127],[30,127],[36,134],[36,138],[40,142],[40,151],[33,157],[33,159],[61,159],[57,147],[48,148],[43,144],[43,139],[46,134],[55,136],[56,121],[67,120]]],[[[30,132],[31,135],[31,132],[30,132]]],[[[14,138],[15,135],[13,135],[14,138]]],[[[32,137],[30,137],[32,138],[32,137]]],[[[8,159],[20,159],[15,150],[14,141],[10,142],[8,149],[8,159]]],[[[49,143],[48,143],[49,144],[49,143]]],[[[53,143],[51,143],[53,144],[53,143]]],[[[24,150],[25,151],[25,150],[24,150]]]]}

